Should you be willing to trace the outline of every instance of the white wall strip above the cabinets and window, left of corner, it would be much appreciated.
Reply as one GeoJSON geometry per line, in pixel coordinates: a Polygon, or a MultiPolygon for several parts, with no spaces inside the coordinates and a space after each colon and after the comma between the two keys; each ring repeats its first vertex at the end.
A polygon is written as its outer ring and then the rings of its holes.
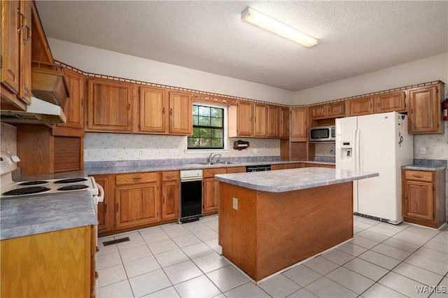
{"type": "Polygon", "coordinates": [[[54,38],[48,38],[48,43],[56,60],[87,73],[117,76],[276,104],[293,104],[293,92],[288,90],[54,38]]]}

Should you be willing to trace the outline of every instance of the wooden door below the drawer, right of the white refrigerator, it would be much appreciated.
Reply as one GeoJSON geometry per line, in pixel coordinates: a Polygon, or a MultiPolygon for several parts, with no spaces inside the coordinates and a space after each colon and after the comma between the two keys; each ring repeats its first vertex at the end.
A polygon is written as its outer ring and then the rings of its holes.
{"type": "Polygon", "coordinates": [[[403,216],[434,220],[433,183],[405,180],[403,216]]]}

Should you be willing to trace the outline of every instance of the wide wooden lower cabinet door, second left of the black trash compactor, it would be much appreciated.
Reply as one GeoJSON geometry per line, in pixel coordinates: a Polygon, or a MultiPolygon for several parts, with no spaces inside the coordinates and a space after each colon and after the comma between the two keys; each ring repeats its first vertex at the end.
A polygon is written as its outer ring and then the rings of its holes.
{"type": "Polygon", "coordinates": [[[157,183],[116,187],[116,227],[133,227],[159,221],[160,195],[157,183]]]}

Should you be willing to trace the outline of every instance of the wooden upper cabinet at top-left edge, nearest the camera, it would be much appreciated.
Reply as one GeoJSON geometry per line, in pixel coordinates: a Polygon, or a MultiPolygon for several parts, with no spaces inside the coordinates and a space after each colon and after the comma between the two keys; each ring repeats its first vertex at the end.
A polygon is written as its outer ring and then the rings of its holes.
{"type": "Polygon", "coordinates": [[[1,109],[31,103],[31,1],[1,1],[1,109]]]}

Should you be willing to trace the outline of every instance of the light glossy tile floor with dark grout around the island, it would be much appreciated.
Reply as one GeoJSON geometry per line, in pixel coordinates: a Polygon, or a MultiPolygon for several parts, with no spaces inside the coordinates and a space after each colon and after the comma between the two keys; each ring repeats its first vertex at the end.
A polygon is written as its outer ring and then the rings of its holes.
{"type": "Polygon", "coordinates": [[[218,216],[102,238],[99,297],[448,298],[448,227],[357,216],[353,227],[352,241],[258,285],[221,257],[218,216]]]}

